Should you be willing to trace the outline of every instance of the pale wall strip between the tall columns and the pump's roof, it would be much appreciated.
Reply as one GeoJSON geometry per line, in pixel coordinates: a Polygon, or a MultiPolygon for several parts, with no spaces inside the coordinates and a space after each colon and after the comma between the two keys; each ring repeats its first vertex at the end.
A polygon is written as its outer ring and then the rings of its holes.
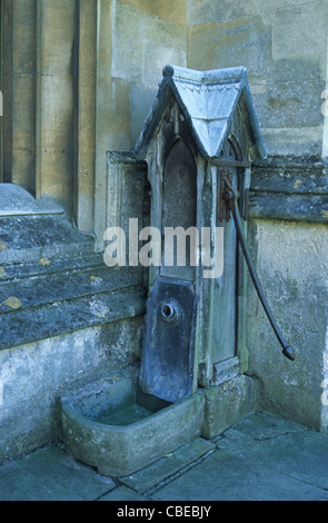
{"type": "Polygon", "coordinates": [[[112,12],[113,148],[135,147],[166,63],[187,66],[187,1],[116,0],[112,12]]]}

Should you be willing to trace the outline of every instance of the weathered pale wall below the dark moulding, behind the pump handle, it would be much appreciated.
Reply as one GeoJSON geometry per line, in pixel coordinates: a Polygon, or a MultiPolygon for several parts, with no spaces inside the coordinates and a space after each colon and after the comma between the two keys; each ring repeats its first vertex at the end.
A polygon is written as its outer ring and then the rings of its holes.
{"type": "Polygon", "coordinates": [[[249,373],[258,378],[259,406],[316,430],[327,430],[320,402],[327,372],[327,226],[256,220],[250,227],[250,241],[272,312],[296,351],[296,362],[284,358],[250,288],[249,373]]]}

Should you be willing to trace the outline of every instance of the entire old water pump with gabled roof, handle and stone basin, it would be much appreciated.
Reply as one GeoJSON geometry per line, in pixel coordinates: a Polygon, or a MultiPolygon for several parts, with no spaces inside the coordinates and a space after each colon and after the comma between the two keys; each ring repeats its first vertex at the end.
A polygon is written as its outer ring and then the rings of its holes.
{"type": "Polygon", "coordinates": [[[245,374],[248,269],[294,359],[246,241],[250,165],[265,156],[246,69],[165,68],[129,156],[129,169],[145,174],[147,166],[149,235],[157,237],[141,368],[79,384],[61,397],[67,451],[100,473],[132,474],[196,438],[218,436],[252,411],[254,381],[245,374]]]}

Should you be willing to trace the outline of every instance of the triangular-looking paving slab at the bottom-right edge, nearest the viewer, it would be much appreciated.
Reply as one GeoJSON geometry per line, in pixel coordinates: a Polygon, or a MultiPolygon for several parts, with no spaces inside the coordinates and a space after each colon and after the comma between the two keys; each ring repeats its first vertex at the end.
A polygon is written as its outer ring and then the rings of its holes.
{"type": "Polygon", "coordinates": [[[328,501],[328,492],[260,463],[217,451],[151,496],[153,501],[328,501]]]}

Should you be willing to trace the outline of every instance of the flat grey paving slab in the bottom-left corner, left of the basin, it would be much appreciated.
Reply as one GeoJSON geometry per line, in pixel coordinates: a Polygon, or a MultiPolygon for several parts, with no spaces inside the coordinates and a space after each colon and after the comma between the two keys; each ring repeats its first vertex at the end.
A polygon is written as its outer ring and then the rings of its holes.
{"type": "Polygon", "coordinates": [[[93,501],[115,482],[49,446],[0,467],[0,501],[93,501]]]}

